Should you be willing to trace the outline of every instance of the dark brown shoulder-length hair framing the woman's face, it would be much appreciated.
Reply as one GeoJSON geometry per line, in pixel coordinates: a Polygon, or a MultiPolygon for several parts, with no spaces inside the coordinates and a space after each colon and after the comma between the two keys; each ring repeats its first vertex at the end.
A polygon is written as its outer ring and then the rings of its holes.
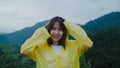
{"type": "MultiPolygon", "coordinates": [[[[63,31],[63,36],[59,41],[59,45],[62,45],[65,48],[65,39],[67,36],[67,30],[65,25],[63,24],[65,20],[62,17],[56,16],[50,20],[50,22],[45,26],[48,32],[50,33],[51,29],[53,28],[54,24],[57,22],[60,25],[60,29],[63,31]]],[[[49,45],[53,44],[53,40],[50,38],[47,39],[49,45]]]]}

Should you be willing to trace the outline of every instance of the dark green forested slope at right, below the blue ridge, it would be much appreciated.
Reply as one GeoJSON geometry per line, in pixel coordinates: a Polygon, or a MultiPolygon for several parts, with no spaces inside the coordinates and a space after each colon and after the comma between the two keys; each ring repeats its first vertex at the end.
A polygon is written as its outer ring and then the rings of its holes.
{"type": "Polygon", "coordinates": [[[94,46],[86,56],[92,60],[92,68],[119,68],[120,26],[100,31],[91,38],[94,46]]]}

